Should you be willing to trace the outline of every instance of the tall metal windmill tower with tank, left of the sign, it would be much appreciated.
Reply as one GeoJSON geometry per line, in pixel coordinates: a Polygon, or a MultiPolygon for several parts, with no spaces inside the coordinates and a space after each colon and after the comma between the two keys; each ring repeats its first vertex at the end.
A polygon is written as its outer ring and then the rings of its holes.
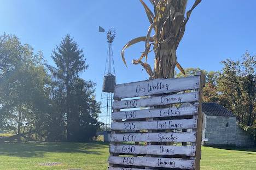
{"type": "Polygon", "coordinates": [[[101,113],[98,116],[98,121],[103,122],[106,130],[111,124],[112,102],[115,86],[115,66],[113,58],[112,43],[115,39],[115,29],[110,28],[105,32],[104,28],[99,27],[99,32],[107,33],[108,52],[104,70],[103,86],[101,92],[101,113]]]}

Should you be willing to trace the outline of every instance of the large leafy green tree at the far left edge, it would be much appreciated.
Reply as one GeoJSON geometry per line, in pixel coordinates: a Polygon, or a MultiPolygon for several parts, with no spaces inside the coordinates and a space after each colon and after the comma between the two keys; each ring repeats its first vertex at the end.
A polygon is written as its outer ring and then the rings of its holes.
{"type": "MultiPolygon", "coordinates": [[[[0,37],[0,129],[18,135],[39,131],[48,106],[48,76],[42,53],[22,45],[15,35],[0,37]]],[[[24,136],[26,137],[26,136],[24,136]]]]}

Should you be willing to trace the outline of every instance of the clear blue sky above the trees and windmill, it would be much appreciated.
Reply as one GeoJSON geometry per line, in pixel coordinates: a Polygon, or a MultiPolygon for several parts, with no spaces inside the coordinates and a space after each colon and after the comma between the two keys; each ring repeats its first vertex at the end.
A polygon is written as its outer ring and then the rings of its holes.
{"type": "MultiPolygon", "coordinates": [[[[145,0],[147,2],[147,0],[145,0]]],[[[188,1],[188,7],[194,1],[188,1]]],[[[220,61],[238,59],[248,50],[256,53],[256,1],[202,0],[193,11],[183,40],[177,51],[183,68],[199,67],[220,70],[220,61]]],[[[117,83],[146,80],[141,66],[132,65],[144,44],[127,49],[128,68],[123,64],[121,48],[132,38],[147,34],[149,22],[138,0],[99,1],[35,1],[0,0],[0,34],[17,35],[22,43],[41,50],[49,64],[51,52],[66,34],[71,34],[84,49],[89,69],[81,77],[97,83],[100,100],[104,62],[107,55],[106,35],[98,33],[98,26],[115,27],[117,38],[113,53],[117,83]]],[[[153,55],[149,56],[149,63],[153,55]]]]}

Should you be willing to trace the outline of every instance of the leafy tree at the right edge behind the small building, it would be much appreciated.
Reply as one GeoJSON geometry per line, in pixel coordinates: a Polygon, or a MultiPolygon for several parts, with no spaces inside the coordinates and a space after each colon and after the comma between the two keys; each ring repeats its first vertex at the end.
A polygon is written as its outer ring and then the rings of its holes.
{"type": "Polygon", "coordinates": [[[256,56],[246,52],[242,60],[226,59],[219,74],[219,102],[235,113],[238,123],[245,127],[256,127],[255,81],[256,56]]]}

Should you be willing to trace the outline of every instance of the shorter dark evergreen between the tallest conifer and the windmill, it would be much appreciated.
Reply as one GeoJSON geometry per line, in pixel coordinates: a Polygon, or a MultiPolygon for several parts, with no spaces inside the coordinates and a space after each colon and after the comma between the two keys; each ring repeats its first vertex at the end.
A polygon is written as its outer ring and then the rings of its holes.
{"type": "Polygon", "coordinates": [[[71,88],[73,142],[90,141],[100,129],[100,123],[97,122],[100,104],[95,100],[94,87],[95,83],[77,78],[71,88]]]}

